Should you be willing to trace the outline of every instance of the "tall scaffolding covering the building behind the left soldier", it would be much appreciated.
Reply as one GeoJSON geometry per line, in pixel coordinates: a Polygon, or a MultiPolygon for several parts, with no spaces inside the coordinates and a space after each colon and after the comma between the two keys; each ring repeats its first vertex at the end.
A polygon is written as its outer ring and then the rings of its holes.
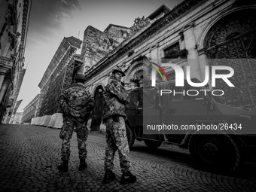
{"type": "Polygon", "coordinates": [[[38,87],[41,88],[41,107],[38,116],[51,115],[59,111],[59,96],[62,90],[71,87],[75,72],[83,62],[75,54],[82,41],[74,38],[64,38],[53,56],[50,65],[44,72],[38,87]]]}

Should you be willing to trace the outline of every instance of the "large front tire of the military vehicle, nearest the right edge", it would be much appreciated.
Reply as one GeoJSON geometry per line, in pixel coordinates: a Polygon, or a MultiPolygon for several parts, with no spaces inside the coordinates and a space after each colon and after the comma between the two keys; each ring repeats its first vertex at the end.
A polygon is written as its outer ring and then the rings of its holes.
{"type": "Polygon", "coordinates": [[[233,172],[240,162],[240,151],[228,135],[195,133],[189,141],[189,151],[197,166],[211,172],[233,172]]]}

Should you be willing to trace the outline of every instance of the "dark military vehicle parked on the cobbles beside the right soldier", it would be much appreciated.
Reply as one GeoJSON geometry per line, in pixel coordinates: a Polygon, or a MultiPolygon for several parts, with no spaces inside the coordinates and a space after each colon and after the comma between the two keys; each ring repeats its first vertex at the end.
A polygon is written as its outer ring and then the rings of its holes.
{"type": "Polygon", "coordinates": [[[225,105],[221,96],[200,90],[209,90],[209,87],[190,87],[187,82],[184,87],[175,87],[174,81],[165,81],[157,84],[157,87],[131,90],[130,103],[126,105],[126,135],[130,148],[135,139],[144,141],[148,148],[158,148],[163,142],[178,145],[187,148],[194,163],[203,169],[235,171],[239,163],[255,154],[256,114],[225,105]],[[166,91],[160,96],[160,90],[179,93],[190,90],[190,94],[174,95],[166,91]],[[194,94],[191,90],[194,90],[194,94]],[[158,130],[154,134],[145,134],[143,125],[147,122],[178,127],[203,124],[219,127],[218,130],[158,130]]]}

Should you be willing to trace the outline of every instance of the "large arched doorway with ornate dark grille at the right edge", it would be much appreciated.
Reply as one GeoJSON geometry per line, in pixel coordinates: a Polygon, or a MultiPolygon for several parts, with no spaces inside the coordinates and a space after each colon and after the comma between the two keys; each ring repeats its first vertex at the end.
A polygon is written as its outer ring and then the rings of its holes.
{"type": "Polygon", "coordinates": [[[222,18],[209,30],[206,56],[209,66],[230,66],[234,75],[228,87],[216,81],[216,90],[224,90],[226,105],[256,110],[256,15],[255,10],[236,11],[222,18]]]}

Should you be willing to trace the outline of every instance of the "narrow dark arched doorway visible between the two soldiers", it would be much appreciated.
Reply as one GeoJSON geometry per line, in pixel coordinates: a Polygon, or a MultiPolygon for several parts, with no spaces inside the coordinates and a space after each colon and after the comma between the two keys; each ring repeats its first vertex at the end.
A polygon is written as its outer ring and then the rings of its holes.
{"type": "Polygon", "coordinates": [[[103,105],[103,87],[100,85],[96,88],[94,93],[94,108],[92,113],[91,131],[99,131],[99,126],[102,123],[103,105]]]}

